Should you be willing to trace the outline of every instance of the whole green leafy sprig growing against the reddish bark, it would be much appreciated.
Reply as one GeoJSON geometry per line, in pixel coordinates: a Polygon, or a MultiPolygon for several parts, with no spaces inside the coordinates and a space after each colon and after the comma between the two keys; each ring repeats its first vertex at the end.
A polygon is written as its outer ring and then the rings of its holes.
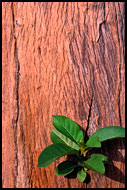
{"type": "Polygon", "coordinates": [[[38,167],[47,167],[64,155],[76,155],[77,162],[66,160],[60,163],[55,169],[55,174],[66,176],[77,168],[77,177],[80,182],[85,181],[87,170],[104,174],[104,163],[108,162],[108,158],[103,154],[94,154],[87,159],[87,152],[92,148],[100,148],[104,141],[125,137],[124,128],[111,126],[97,130],[85,142],[82,130],[71,119],[65,116],[53,115],[53,125],[56,128],[50,132],[53,144],[41,152],[38,167]]]}

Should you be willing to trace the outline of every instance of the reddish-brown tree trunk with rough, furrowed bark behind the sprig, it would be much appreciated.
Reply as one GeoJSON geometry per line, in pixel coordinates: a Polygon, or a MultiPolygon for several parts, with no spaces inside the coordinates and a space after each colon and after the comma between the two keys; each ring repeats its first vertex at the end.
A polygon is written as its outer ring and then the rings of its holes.
{"type": "Polygon", "coordinates": [[[2,3],[2,180],[7,188],[122,188],[124,141],[105,144],[104,175],[89,183],[37,168],[51,144],[52,115],[90,136],[125,127],[125,3],[2,3]]]}

